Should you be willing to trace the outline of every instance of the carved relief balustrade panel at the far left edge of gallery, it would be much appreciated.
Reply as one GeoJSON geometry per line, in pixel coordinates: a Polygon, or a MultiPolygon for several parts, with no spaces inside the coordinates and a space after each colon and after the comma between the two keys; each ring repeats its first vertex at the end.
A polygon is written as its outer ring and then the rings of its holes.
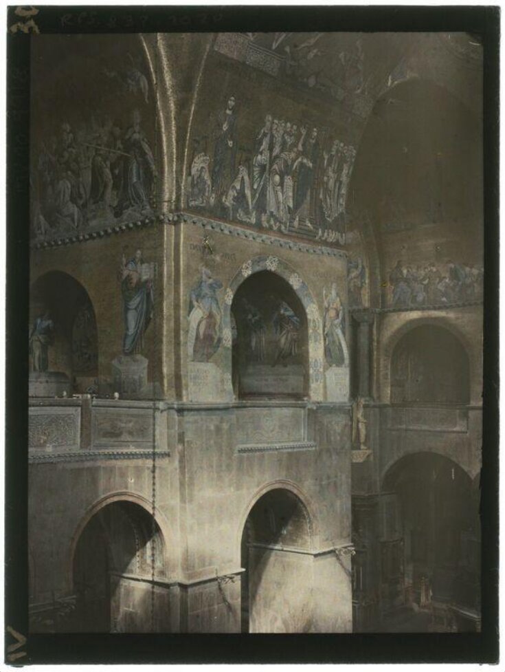
{"type": "Polygon", "coordinates": [[[30,408],[28,446],[30,451],[78,450],[80,409],[30,408]]]}

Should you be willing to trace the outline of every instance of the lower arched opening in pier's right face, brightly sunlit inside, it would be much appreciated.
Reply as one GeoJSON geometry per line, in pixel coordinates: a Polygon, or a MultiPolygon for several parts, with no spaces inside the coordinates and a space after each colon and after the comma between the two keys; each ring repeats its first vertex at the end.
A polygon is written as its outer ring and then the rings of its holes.
{"type": "Polygon", "coordinates": [[[249,512],[240,546],[241,631],[306,632],[311,627],[311,525],[290,490],[262,495],[249,512]]]}

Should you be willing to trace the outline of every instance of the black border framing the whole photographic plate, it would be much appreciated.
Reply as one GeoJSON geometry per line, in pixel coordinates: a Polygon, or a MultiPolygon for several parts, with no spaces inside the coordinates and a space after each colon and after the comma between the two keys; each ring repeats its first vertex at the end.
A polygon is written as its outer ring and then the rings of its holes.
{"type": "MultiPolygon", "coordinates": [[[[484,391],[482,631],[429,634],[30,634],[27,378],[30,43],[8,32],[5,357],[5,627],[27,636],[10,664],[496,662],[498,657],[498,180],[500,8],[494,6],[39,6],[41,34],[127,32],[472,32],[484,44],[484,391]]],[[[8,27],[20,21],[8,10],[8,27]]],[[[57,521],[54,533],[57,534],[57,521]]],[[[13,644],[5,633],[5,649],[13,644]]],[[[7,656],[7,652],[5,653],[7,656]]]]}

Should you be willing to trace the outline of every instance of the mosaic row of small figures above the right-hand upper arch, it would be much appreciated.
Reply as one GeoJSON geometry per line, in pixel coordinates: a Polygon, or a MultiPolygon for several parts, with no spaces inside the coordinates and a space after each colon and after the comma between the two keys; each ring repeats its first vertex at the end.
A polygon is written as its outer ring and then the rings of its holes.
{"type": "Polygon", "coordinates": [[[482,264],[397,261],[389,274],[390,305],[414,307],[449,305],[482,299],[482,264]]]}

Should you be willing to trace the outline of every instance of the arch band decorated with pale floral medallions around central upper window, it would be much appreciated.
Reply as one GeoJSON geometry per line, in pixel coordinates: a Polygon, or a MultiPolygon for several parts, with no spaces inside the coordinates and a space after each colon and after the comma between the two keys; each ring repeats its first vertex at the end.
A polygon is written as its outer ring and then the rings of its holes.
{"type": "Polygon", "coordinates": [[[304,308],[308,324],[308,393],[313,401],[324,399],[324,346],[322,319],[311,290],[300,274],[289,263],[275,257],[262,254],[247,259],[234,275],[225,289],[223,305],[223,346],[226,351],[226,371],[229,377],[228,387],[232,388],[232,323],[231,308],[236,291],[240,285],[254,273],[269,271],[278,274],[293,288],[304,308]]]}

